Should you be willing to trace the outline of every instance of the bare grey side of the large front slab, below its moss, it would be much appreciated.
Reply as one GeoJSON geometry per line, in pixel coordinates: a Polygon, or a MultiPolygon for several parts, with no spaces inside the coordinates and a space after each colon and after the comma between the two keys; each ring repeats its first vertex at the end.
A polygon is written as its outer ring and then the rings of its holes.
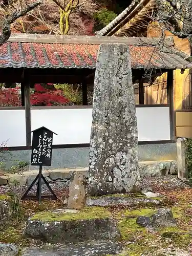
{"type": "Polygon", "coordinates": [[[74,219],[70,217],[70,220],[63,217],[60,220],[58,214],[56,217],[50,221],[46,221],[45,217],[42,220],[38,216],[36,218],[29,218],[24,236],[53,244],[93,240],[114,241],[120,238],[117,223],[111,217],[92,217],[92,219],[74,219]]]}

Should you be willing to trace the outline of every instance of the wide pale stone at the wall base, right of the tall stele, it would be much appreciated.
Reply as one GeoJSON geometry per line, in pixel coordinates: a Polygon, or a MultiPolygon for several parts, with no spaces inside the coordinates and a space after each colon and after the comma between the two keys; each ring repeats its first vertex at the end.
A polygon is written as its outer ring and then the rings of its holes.
{"type": "Polygon", "coordinates": [[[141,177],[144,178],[168,175],[170,163],[170,161],[140,162],[141,177]]]}

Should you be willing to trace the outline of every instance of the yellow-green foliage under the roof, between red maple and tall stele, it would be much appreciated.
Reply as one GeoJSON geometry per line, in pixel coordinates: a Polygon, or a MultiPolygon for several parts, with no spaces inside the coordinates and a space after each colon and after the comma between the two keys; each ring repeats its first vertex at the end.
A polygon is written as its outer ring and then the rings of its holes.
{"type": "Polygon", "coordinates": [[[63,91],[63,95],[69,99],[74,104],[80,105],[82,104],[82,94],[79,92],[79,87],[76,90],[73,90],[73,86],[68,83],[63,84],[55,84],[54,87],[57,90],[63,91]]]}

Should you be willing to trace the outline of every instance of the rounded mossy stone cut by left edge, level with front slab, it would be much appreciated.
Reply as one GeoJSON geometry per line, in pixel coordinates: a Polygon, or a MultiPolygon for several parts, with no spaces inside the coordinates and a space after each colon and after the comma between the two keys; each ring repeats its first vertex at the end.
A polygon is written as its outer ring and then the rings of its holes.
{"type": "Polygon", "coordinates": [[[0,228],[5,225],[12,215],[11,203],[0,195],[0,228]]]}

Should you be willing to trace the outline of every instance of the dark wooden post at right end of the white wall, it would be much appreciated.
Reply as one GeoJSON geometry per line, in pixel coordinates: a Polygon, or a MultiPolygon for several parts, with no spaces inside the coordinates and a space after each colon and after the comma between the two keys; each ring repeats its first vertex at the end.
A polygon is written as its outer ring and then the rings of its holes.
{"type": "Polygon", "coordinates": [[[170,140],[175,140],[174,71],[167,72],[167,103],[169,104],[170,140]]]}

